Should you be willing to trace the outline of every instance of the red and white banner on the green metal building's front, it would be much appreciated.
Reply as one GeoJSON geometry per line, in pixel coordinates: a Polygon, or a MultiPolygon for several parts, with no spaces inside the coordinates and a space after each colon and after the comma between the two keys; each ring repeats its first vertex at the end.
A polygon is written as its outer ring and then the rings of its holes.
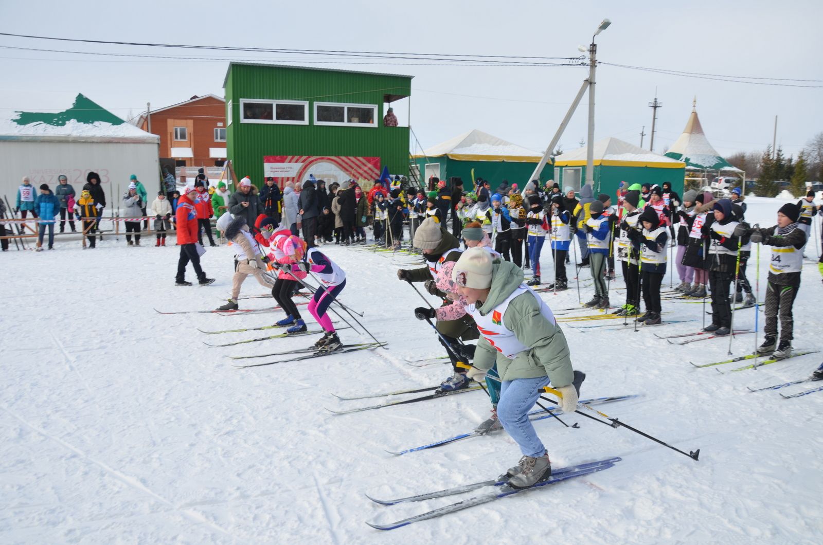
{"type": "Polygon", "coordinates": [[[378,179],[379,157],[340,156],[263,156],[263,176],[277,179],[283,187],[286,182],[302,184],[309,175],[323,179],[326,187],[346,179],[378,179]]]}

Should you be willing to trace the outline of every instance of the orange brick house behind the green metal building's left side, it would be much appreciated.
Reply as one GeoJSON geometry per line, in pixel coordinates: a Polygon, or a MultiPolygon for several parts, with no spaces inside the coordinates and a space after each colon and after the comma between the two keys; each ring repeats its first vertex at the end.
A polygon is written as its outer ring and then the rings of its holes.
{"type": "Polygon", "coordinates": [[[160,157],[176,166],[222,166],[226,160],[226,100],[219,96],[195,95],[153,109],[140,116],[137,127],[159,136],[160,157]]]}

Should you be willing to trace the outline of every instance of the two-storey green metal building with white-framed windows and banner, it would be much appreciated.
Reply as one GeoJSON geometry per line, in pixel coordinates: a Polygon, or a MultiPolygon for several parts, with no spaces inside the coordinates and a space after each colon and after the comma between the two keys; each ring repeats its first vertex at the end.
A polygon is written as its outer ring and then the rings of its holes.
{"type": "Polygon", "coordinates": [[[282,186],[407,175],[409,128],[384,126],[384,105],[412,94],[412,76],[230,63],[226,155],[235,175],[282,186]]]}

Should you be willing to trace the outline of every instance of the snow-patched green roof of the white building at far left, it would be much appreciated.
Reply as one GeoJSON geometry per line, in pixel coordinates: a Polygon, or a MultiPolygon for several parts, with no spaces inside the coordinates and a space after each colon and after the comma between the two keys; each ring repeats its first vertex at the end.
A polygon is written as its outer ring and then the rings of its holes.
{"type": "Polygon", "coordinates": [[[16,111],[0,118],[0,139],[159,142],[81,94],[62,112],[16,111]]]}

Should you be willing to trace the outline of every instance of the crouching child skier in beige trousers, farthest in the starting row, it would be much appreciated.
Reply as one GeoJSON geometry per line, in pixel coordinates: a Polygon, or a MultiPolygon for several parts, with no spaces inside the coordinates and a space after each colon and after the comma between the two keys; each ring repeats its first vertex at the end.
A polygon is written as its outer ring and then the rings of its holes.
{"type": "Polygon", "coordinates": [[[274,282],[266,274],[268,258],[258,249],[257,241],[246,225],[246,218],[226,213],[217,220],[217,224],[217,229],[222,231],[226,240],[235,245],[235,276],[231,279],[231,296],[226,305],[218,306],[217,310],[237,310],[240,287],[249,274],[268,290],[274,287],[274,282]]]}

